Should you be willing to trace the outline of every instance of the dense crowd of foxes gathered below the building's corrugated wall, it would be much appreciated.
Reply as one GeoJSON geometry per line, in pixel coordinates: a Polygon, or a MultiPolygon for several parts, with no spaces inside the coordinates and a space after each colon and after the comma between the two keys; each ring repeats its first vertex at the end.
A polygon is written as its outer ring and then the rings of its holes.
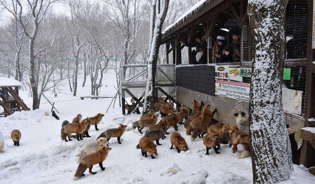
{"type": "MultiPolygon", "coordinates": [[[[247,118],[245,118],[245,112],[238,110],[238,113],[234,114],[237,118],[236,123],[238,126],[229,126],[228,124],[212,124],[212,118],[217,112],[215,109],[210,111],[210,105],[204,105],[201,101],[193,101],[193,110],[188,117],[188,109],[185,106],[180,107],[180,112],[177,112],[173,108],[173,102],[165,102],[164,100],[154,104],[154,110],[142,115],[140,119],[133,123],[132,129],[142,134],[142,130],[147,127],[145,135],[139,140],[139,144],[136,148],[141,148],[142,156],[147,157],[147,152],[157,155],[156,145],[161,145],[159,140],[165,138],[165,134],[169,134],[167,130],[169,127],[174,127],[175,131],[178,130],[177,124],[184,124],[186,128],[186,135],[191,135],[190,140],[194,141],[197,137],[203,139],[203,144],[206,147],[206,155],[209,155],[209,149],[213,148],[216,154],[219,154],[220,144],[228,144],[231,141],[229,147],[233,145],[233,153],[237,152],[237,145],[242,144],[244,151],[240,155],[239,159],[248,157],[249,151],[249,124],[247,118]],[[160,111],[163,117],[160,122],[157,123],[158,115],[156,111],[160,111]],[[202,112],[202,114],[201,114],[202,112]],[[184,123],[183,120],[185,119],[184,123]],[[156,141],[156,145],[153,141],[156,141]]],[[[188,150],[185,139],[178,132],[173,132],[170,136],[171,148],[173,145],[180,153],[180,151],[188,150]]]]}

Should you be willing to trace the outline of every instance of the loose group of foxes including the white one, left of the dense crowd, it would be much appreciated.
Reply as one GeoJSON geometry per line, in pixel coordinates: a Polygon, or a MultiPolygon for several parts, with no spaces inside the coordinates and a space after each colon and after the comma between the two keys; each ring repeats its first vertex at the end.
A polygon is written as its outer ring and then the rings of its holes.
{"type": "MultiPolygon", "coordinates": [[[[103,117],[104,114],[98,113],[94,117],[88,117],[82,120],[82,115],[78,114],[77,117],[73,118],[72,123],[69,123],[67,120],[64,121],[61,125],[61,140],[67,142],[68,137],[69,141],[72,141],[72,139],[70,139],[72,137],[71,134],[76,134],[75,137],[78,141],[83,140],[83,137],[91,137],[89,135],[90,126],[94,125],[95,130],[99,130],[97,125],[103,117]]],[[[120,124],[118,128],[107,129],[101,133],[96,140],[84,144],[80,152],[80,157],[77,159],[79,166],[73,180],[78,180],[81,176],[84,176],[84,172],[87,168],[89,168],[89,173],[93,175],[96,174],[96,172],[92,172],[93,165],[95,164],[99,164],[101,170],[105,170],[103,161],[106,159],[108,152],[112,149],[108,146],[108,141],[112,137],[117,137],[118,143],[121,144],[120,137],[125,132],[126,127],[127,125],[120,124]]]]}

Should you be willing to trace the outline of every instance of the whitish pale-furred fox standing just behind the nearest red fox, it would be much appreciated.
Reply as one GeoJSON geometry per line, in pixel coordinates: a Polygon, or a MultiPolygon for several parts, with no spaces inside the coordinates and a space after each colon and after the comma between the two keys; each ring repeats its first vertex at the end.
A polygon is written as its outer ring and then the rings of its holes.
{"type": "Polygon", "coordinates": [[[86,143],[83,145],[82,150],[80,152],[80,157],[77,159],[77,164],[81,162],[81,160],[90,153],[96,152],[100,149],[102,146],[108,146],[108,142],[105,137],[100,137],[99,139],[96,139],[95,141],[86,143]]]}

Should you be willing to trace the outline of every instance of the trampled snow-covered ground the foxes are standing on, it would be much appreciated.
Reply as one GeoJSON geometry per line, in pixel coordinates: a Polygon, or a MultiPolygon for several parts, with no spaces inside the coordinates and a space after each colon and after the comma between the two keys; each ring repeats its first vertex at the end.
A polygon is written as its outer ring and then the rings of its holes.
{"type": "MultiPolygon", "coordinates": [[[[89,76],[88,76],[89,77],[89,76]]],[[[115,75],[113,71],[105,74],[100,96],[115,95],[115,75]],[[105,87],[107,85],[108,87],[105,87]]],[[[201,139],[190,141],[190,136],[185,135],[185,128],[179,125],[180,134],[186,139],[189,150],[177,153],[176,149],[170,150],[169,136],[160,140],[161,146],[157,146],[158,156],[152,159],[150,156],[142,157],[140,149],[136,145],[142,135],[138,131],[131,130],[132,122],[138,120],[140,115],[132,114],[123,116],[118,101],[115,108],[106,109],[112,99],[84,99],[80,96],[90,95],[90,83],[86,87],[80,87],[82,78],[79,79],[77,97],[73,97],[68,86],[65,86],[63,94],[54,97],[50,93],[45,94],[55,102],[60,112],[56,120],[51,115],[45,116],[44,112],[51,109],[50,104],[42,99],[40,109],[29,112],[15,112],[7,118],[0,118],[0,131],[5,137],[4,153],[0,153],[0,181],[9,183],[252,183],[251,158],[239,160],[242,146],[238,146],[238,152],[233,154],[232,148],[222,145],[221,154],[215,154],[209,150],[205,155],[205,147],[201,139]],[[90,138],[83,141],[65,142],[60,140],[61,123],[72,119],[81,113],[83,118],[103,113],[100,130],[96,131],[91,126],[90,138]],[[127,124],[127,131],[123,134],[122,144],[118,144],[116,138],[109,142],[112,150],[103,162],[106,167],[100,170],[99,165],[93,167],[96,175],[85,172],[78,181],[72,181],[77,170],[78,158],[84,143],[96,139],[106,129],[116,128],[119,124],[127,124]],[[10,133],[13,129],[19,129],[22,134],[20,146],[13,145],[10,133]]],[[[31,107],[31,98],[27,98],[28,92],[20,91],[20,96],[31,107]]],[[[218,109],[220,111],[220,109],[218,109]]],[[[161,117],[158,118],[158,121],[161,117]]],[[[169,129],[169,133],[175,131],[169,129]]],[[[294,173],[289,181],[283,183],[315,183],[315,176],[311,175],[304,166],[294,165],[294,173]]]]}

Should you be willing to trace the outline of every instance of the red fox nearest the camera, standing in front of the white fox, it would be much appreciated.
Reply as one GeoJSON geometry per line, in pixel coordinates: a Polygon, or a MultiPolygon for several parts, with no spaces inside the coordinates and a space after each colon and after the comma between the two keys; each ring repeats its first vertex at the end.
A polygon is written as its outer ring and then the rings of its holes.
{"type": "Polygon", "coordinates": [[[98,151],[86,155],[80,162],[76,174],[73,176],[73,180],[78,180],[81,176],[84,176],[84,171],[89,168],[89,173],[95,175],[96,172],[92,172],[93,165],[99,164],[101,170],[105,170],[103,167],[103,161],[106,159],[109,150],[112,148],[102,146],[98,151]]]}

